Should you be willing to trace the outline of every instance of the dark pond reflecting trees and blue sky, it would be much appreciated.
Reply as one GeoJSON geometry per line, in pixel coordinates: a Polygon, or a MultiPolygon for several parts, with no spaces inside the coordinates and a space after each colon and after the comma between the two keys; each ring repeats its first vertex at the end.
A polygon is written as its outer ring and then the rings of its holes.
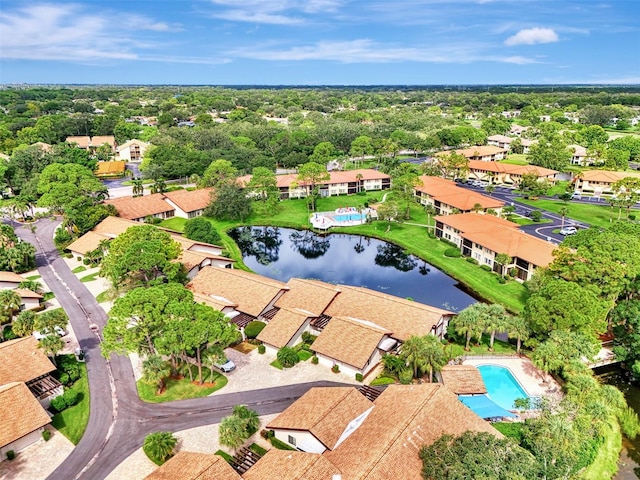
{"type": "Polygon", "coordinates": [[[366,287],[451,311],[477,301],[453,278],[381,240],[277,227],[229,234],[251,270],[283,282],[298,277],[366,287]]]}

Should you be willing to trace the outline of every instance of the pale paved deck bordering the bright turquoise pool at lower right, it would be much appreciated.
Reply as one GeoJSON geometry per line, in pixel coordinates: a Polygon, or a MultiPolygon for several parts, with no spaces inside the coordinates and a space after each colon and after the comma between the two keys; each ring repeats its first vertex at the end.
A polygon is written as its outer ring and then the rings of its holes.
{"type": "Polygon", "coordinates": [[[555,398],[560,395],[560,385],[546,373],[538,370],[531,360],[524,357],[468,358],[464,365],[499,365],[508,368],[520,386],[530,397],[555,398]]]}

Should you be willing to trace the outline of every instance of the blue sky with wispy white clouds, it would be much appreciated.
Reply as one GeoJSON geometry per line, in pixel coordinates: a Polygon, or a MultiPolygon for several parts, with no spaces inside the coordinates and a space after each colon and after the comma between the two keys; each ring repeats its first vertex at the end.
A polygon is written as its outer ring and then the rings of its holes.
{"type": "Polygon", "coordinates": [[[640,83],[640,0],[2,0],[0,83],[640,83]]]}

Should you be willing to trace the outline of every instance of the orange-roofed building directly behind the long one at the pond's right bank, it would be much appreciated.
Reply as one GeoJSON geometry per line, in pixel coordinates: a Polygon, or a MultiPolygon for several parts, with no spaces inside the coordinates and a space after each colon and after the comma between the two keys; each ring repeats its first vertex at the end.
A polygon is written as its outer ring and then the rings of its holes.
{"type": "Polygon", "coordinates": [[[433,205],[438,215],[451,213],[486,213],[492,210],[500,214],[504,202],[481,193],[459,187],[455,182],[440,177],[422,175],[414,188],[416,200],[421,205],[433,205]]]}

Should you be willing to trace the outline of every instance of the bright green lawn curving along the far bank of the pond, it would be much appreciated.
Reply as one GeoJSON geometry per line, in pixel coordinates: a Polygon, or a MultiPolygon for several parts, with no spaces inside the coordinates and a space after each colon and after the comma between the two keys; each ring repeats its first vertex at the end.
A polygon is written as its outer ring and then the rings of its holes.
{"type": "MultiPolygon", "coordinates": [[[[323,198],[318,201],[318,211],[330,211],[339,207],[358,207],[364,202],[380,199],[387,192],[369,192],[366,196],[351,195],[323,198]]],[[[371,203],[370,202],[370,203],[371,203]]],[[[209,219],[217,228],[227,254],[237,261],[237,268],[247,267],[242,263],[242,255],[235,242],[226,234],[227,230],[240,225],[272,225],[289,228],[309,228],[309,211],[305,200],[287,200],[280,202],[279,211],[271,215],[253,214],[246,222],[220,222],[209,219]]],[[[433,219],[431,219],[433,225],[433,219]]],[[[434,267],[442,270],[454,279],[463,283],[467,289],[478,297],[503,304],[512,312],[520,312],[526,298],[525,287],[516,281],[506,284],[498,283],[496,275],[482,270],[464,258],[447,258],[444,251],[449,248],[444,242],[427,235],[427,215],[418,204],[411,205],[411,219],[404,223],[391,224],[387,232],[387,222],[375,221],[370,224],[331,230],[337,233],[365,235],[389,241],[403,247],[407,253],[413,254],[434,267]]]]}

